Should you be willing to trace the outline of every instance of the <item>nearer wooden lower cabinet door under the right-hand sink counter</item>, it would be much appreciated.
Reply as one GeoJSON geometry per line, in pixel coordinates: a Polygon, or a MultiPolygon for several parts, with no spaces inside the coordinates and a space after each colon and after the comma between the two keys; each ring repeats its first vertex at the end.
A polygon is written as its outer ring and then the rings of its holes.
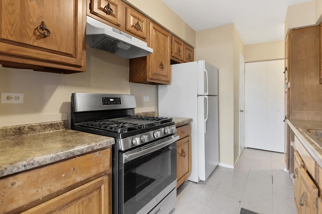
{"type": "Polygon", "coordinates": [[[318,188],[305,169],[302,168],[300,174],[300,198],[295,203],[299,204],[300,213],[317,213],[318,188]]]}

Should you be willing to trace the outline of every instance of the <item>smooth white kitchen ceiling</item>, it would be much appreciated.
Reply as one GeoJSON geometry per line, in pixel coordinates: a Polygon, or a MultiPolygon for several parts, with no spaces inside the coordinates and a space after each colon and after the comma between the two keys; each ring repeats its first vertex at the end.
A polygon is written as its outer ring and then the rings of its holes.
{"type": "Polygon", "coordinates": [[[287,7],[312,0],[162,0],[195,31],[233,23],[244,45],[284,39],[287,7]]]}

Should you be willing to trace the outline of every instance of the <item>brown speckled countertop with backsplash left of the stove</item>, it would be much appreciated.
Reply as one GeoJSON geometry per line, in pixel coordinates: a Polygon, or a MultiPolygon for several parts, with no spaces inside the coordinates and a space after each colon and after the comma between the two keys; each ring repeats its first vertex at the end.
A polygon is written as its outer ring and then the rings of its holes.
{"type": "Polygon", "coordinates": [[[67,129],[67,121],[0,127],[0,177],[81,155],[114,138],[67,129]]]}

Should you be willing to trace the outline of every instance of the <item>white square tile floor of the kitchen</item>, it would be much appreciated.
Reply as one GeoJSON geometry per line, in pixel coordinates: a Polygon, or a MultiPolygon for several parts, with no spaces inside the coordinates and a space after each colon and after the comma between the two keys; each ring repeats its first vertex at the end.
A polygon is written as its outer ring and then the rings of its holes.
{"type": "Polygon", "coordinates": [[[206,181],[177,189],[172,214],[294,214],[293,183],[283,171],[284,154],[244,149],[234,169],[217,166],[206,181]]]}

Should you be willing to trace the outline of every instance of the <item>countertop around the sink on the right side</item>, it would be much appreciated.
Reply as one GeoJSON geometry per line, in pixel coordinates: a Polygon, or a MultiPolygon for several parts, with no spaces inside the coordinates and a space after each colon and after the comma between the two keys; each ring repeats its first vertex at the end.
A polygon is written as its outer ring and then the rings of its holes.
{"type": "Polygon", "coordinates": [[[322,121],[307,121],[307,120],[286,120],[298,140],[317,162],[322,167],[322,142],[317,140],[313,135],[308,133],[306,129],[321,129],[322,121]]]}

